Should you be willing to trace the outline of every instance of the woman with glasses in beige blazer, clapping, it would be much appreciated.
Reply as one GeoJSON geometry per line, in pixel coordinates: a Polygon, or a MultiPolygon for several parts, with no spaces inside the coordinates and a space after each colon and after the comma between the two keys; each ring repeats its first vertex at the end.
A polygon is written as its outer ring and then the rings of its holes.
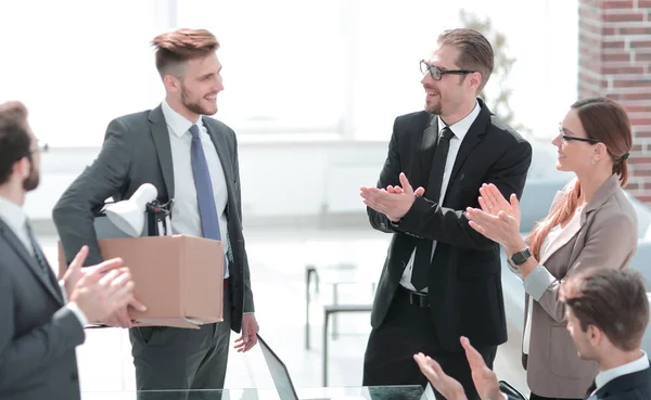
{"type": "MultiPolygon", "coordinates": [[[[598,372],[596,362],[579,359],[565,328],[562,280],[586,268],[626,268],[637,250],[637,215],[622,190],[633,147],[624,109],[608,99],[579,100],[552,143],[557,169],[576,178],[526,238],[520,234],[515,195],[507,201],[494,185],[484,185],[481,209],[467,210],[471,227],[502,245],[510,269],[523,281],[523,365],[533,400],[583,399],[598,372]]],[[[604,339],[596,334],[590,340],[604,339]]]]}

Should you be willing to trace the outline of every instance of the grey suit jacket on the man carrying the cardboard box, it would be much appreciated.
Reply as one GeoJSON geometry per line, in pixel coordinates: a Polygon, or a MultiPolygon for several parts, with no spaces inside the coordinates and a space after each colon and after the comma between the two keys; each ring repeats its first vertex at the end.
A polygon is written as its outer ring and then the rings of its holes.
{"type": "MultiPolygon", "coordinates": [[[[233,253],[229,263],[232,295],[231,327],[240,332],[242,313],[253,312],[248,260],[242,234],[240,169],[235,133],[225,124],[204,117],[215,144],[228,188],[228,235],[233,253]]],[[[158,190],[158,199],[174,198],[174,168],[169,132],[161,106],[114,119],[108,125],[102,151],[91,166],[73,182],[54,207],[53,218],[68,261],[84,245],[90,247],[87,264],[102,261],[93,218],[107,197],[129,198],[143,183],[158,190]]],[[[173,210],[174,218],[174,210],[173,210]]]]}

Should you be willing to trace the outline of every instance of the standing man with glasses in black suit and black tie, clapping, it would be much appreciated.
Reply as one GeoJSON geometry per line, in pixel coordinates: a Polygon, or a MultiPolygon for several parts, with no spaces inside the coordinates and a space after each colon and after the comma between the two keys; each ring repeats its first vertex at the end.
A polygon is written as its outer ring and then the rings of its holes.
{"type": "Polygon", "coordinates": [[[477,399],[459,336],[490,367],[507,340],[499,246],[464,215],[478,206],[483,183],[520,196],[532,159],[531,144],[477,98],[493,63],[481,34],[443,33],[421,62],[425,111],[396,118],[378,188],[361,188],[371,225],[393,233],[371,314],[366,386],[424,385],[411,358],[422,351],[477,399]]]}

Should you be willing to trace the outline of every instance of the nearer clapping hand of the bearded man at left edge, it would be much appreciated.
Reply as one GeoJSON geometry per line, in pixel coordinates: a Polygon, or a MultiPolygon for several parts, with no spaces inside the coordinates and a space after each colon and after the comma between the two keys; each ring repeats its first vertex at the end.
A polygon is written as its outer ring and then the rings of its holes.
{"type": "MultiPolygon", "coordinates": [[[[111,262],[122,264],[120,259],[111,262]]],[[[129,269],[112,268],[106,272],[106,268],[86,271],[69,295],[71,302],[79,307],[88,321],[101,321],[133,298],[133,281],[129,269]]]]}

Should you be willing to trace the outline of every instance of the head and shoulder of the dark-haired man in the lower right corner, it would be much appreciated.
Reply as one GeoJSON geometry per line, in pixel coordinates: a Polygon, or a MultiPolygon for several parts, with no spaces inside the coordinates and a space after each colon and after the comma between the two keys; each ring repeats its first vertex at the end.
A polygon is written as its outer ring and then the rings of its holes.
{"type": "Polygon", "coordinates": [[[651,399],[651,367],[641,349],[649,324],[644,281],[631,270],[588,269],[561,288],[578,356],[599,364],[589,400],[651,399]]]}

